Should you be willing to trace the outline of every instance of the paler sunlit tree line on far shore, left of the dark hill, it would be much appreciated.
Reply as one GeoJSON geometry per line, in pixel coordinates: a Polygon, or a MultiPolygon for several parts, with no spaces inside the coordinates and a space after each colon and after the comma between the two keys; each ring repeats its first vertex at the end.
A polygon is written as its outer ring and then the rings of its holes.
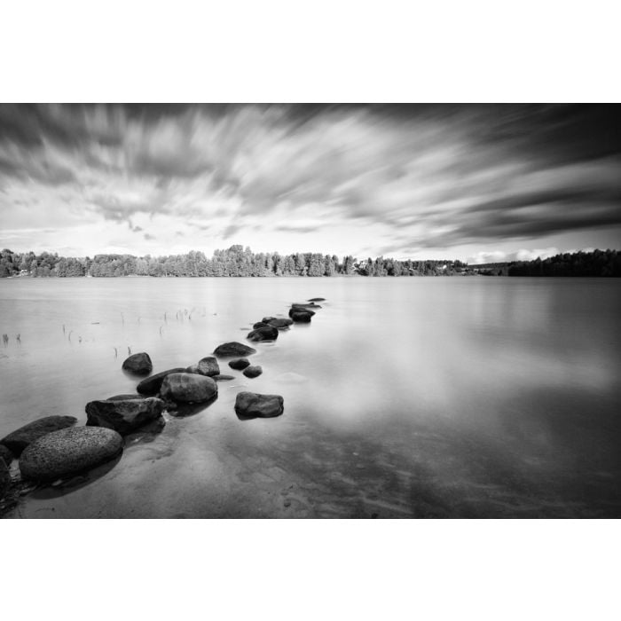
{"type": "Polygon", "coordinates": [[[116,276],[444,276],[460,273],[466,263],[460,261],[397,261],[395,259],[339,259],[320,253],[253,253],[240,245],[216,250],[211,258],[196,250],[185,255],[134,256],[95,255],[92,259],[59,256],[42,252],[14,253],[4,249],[0,255],[0,278],[10,276],[44,277],[116,277],[116,276]]]}

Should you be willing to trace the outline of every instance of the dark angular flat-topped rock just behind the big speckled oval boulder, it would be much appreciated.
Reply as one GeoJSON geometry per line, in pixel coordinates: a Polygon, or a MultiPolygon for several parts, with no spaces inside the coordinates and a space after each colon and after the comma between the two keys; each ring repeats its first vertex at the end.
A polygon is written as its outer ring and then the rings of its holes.
{"type": "Polygon", "coordinates": [[[86,424],[90,427],[114,429],[125,436],[147,422],[161,418],[164,402],[156,397],[90,401],[85,410],[86,424]]]}

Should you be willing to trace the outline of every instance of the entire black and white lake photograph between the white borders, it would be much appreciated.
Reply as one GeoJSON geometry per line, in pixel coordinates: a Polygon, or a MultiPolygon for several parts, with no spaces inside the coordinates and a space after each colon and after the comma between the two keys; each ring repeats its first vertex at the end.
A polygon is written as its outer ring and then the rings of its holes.
{"type": "Polygon", "coordinates": [[[620,106],[0,119],[4,516],[621,515],[620,106]]]}

